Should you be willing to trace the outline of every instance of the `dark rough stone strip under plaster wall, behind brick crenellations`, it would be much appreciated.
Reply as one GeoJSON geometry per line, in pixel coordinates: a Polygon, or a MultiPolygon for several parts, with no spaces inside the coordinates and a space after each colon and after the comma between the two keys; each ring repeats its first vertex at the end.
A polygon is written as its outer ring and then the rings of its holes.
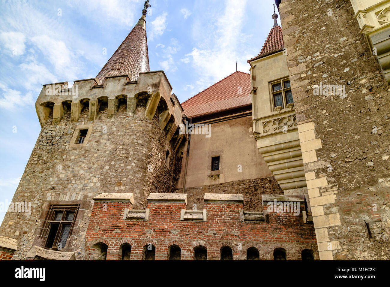
{"type": "MultiPolygon", "coordinates": [[[[177,189],[176,193],[182,193],[183,189],[177,189]]],[[[283,194],[275,177],[254,178],[224,182],[222,184],[203,185],[186,188],[188,196],[188,209],[202,210],[205,193],[232,193],[243,194],[245,210],[262,211],[262,194],[283,194]],[[196,206],[194,206],[196,204],[196,206]],[[196,208],[196,209],[195,209],[196,208]]]]}

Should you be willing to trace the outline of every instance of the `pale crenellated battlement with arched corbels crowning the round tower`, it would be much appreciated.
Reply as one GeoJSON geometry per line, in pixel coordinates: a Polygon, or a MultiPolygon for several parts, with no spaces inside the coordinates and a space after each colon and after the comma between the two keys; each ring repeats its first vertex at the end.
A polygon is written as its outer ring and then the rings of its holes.
{"type": "Polygon", "coordinates": [[[169,126],[168,137],[172,137],[182,122],[183,109],[174,94],[164,71],[140,73],[137,81],[130,81],[128,75],[106,77],[104,84],[97,78],[76,80],[69,88],[67,82],[43,85],[35,102],[41,126],[51,118],[60,123],[64,112],[70,110],[71,121],[78,121],[83,108],[88,109],[88,121],[97,118],[99,107],[107,105],[107,115],[112,117],[119,102],[126,103],[126,115],[133,116],[137,104],[145,104],[145,116],[154,117],[160,107],[160,127],[169,126]]]}

